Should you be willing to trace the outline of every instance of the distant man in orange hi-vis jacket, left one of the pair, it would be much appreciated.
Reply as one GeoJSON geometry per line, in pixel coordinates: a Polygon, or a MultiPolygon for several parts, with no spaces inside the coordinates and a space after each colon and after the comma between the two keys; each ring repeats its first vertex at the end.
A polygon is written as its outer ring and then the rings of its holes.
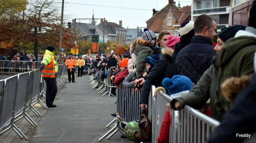
{"type": "Polygon", "coordinates": [[[67,75],[68,75],[68,82],[71,82],[71,74],[72,74],[72,82],[75,81],[75,71],[76,71],[76,58],[73,58],[73,53],[70,53],[70,56],[66,59],[65,62],[67,66],[67,75]]]}

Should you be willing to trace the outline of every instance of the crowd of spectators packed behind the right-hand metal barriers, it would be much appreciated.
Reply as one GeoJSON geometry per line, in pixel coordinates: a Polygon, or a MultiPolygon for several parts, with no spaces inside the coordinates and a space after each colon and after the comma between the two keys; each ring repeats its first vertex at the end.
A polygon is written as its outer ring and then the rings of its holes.
{"type": "MultiPolygon", "coordinates": [[[[244,138],[236,138],[236,134],[255,131],[254,126],[250,126],[256,119],[255,114],[245,112],[245,107],[255,109],[252,103],[255,98],[251,97],[255,94],[255,11],[256,1],[250,10],[248,26],[224,27],[218,34],[216,20],[206,14],[198,16],[194,22],[183,22],[177,37],[169,31],[161,31],[157,37],[145,28],[143,36],[134,39],[128,50],[117,46],[111,52],[97,54],[96,59],[88,59],[96,71],[95,80],[104,81],[105,71],[111,70],[110,77],[116,88],[122,83],[125,87],[142,90],[138,99],[141,109],[148,109],[152,84],[165,87],[173,98],[171,109],[180,110],[189,105],[221,121],[209,142],[240,142],[244,138]],[[104,71],[102,75],[99,70],[104,71]],[[244,126],[236,127],[237,123],[244,126]]],[[[111,92],[115,95],[115,89],[111,92]]],[[[169,126],[168,121],[161,127],[158,143],[169,140],[164,130],[166,126],[169,126]]]]}

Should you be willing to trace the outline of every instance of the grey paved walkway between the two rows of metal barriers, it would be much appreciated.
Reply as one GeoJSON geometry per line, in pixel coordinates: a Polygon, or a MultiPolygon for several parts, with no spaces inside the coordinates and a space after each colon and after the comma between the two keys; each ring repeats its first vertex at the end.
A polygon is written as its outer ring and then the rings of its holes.
{"type": "MultiPolygon", "coordinates": [[[[35,105],[43,115],[37,117],[30,112],[38,127],[31,126],[25,119],[15,123],[29,140],[20,139],[10,129],[0,135],[0,143],[97,143],[113,127],[113,124],[108,128],[105,126],[114,119],[110,114],[116,111],[116,96],[97,94],[96,89],[89,86],[88,77],[76,77],[75,83],[66,81],[55,98],[57,107],[47,110],[35,105]]],[[[120,138],[120,135],[117,132],[110,140],[104,138],[101,142],[133,142],[120,138]]]]}

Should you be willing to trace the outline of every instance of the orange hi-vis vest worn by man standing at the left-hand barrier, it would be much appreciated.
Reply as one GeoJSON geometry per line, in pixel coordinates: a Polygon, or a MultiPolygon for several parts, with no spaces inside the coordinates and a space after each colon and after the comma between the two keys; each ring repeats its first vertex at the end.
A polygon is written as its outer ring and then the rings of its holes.
{"type": "Polygon", "coordinates": [[[50,55],[51,62],[47,64],[42,70],[42,77],[55,78],[55,64],[50,53],[44,53],[44,57],[50,55]]]}

